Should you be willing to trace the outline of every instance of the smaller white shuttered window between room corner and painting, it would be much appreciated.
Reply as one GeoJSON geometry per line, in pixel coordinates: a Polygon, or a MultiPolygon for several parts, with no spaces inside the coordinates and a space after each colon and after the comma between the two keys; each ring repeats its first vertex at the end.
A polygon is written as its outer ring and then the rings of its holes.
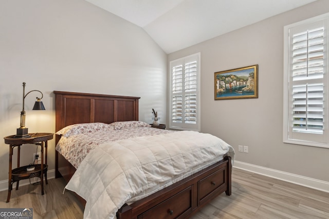
{"type": "Polygon", "coordinates": [[[170,62],[170,128],[200,131],[200,53],[170,62]]]}

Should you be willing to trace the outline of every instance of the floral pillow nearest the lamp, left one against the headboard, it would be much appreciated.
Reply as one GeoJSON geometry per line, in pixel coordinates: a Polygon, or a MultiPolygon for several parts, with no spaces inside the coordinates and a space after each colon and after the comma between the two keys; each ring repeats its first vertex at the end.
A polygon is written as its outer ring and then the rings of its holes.
{"type": "Polygon", "coordinates": [[[76,134],[83,134],[88,132],[96,132],[101,130],[111,131],[114,130],[112,126],[106,123],[79,123],[70,126],[66,126],[56,132],[56,134],[63,135],[64,137],[69,137],[76,134]]]}

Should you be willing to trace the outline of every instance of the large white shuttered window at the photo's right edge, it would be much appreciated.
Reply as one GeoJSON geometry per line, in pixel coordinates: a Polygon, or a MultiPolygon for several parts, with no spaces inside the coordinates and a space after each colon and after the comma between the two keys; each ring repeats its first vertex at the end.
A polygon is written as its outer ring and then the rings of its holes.
{"type": "Polygon", "coordinates": [[[285,143],[329,148],[329,13],[284,27],[285,143]]]}

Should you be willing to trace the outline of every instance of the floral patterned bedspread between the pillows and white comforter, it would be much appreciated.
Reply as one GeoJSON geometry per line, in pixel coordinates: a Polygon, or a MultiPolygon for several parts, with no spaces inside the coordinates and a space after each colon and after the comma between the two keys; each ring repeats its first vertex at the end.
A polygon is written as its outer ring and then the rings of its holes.
{"type": "Polygon", "coordinates": [[[106,142],[124,140],[137,136],[170,133],[173,131],[150,127],[126,128],[121,130],[105,130],[61,137],[56,150],[62,154],[75,168],[78,168],[85,156],[99,145],[106,142]]]}

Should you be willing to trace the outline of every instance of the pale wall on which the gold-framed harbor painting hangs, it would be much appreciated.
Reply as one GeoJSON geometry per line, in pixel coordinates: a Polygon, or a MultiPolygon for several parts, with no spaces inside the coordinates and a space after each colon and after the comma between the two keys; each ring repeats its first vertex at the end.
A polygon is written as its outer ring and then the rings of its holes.
{"type": "Polygon", "coordinates": [[[282,142],[283,27],[326,12],[329,1],[317,1],[168,55],[201,52],[201,131],[232,145],[236,161],[329,182],[328,149],[282,142]],[[254,64],[259,98],[214,101],[214,72],[254,64]]]}

